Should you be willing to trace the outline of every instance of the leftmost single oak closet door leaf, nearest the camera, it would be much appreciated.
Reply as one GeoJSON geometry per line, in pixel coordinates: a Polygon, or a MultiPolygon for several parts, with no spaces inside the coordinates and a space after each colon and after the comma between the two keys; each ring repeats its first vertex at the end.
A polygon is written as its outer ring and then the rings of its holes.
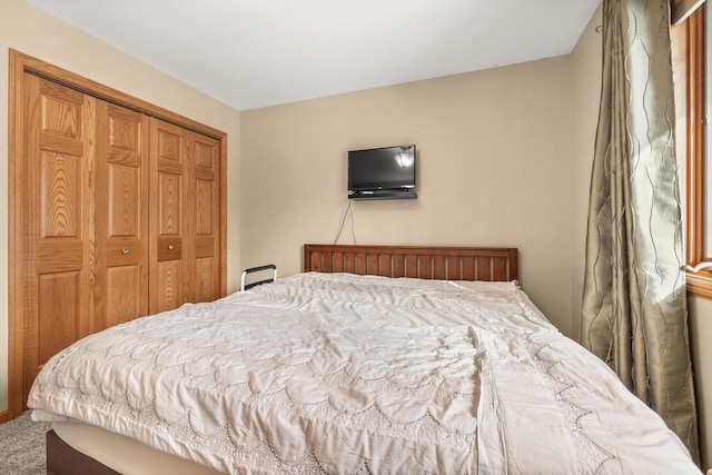
{"type": "Polygon", "coordinates": [[[47,359],[90,330],[96,100],[26,75],[22,390],[47,359]]]}

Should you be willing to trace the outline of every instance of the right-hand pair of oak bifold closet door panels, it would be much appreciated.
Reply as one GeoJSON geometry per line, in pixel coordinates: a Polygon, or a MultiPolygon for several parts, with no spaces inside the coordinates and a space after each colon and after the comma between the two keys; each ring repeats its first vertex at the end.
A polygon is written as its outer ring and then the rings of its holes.
{"type": "Polygon", "coordinates": [[[217,140],[151,118],[151,314],[219,296],[217,140]]]}

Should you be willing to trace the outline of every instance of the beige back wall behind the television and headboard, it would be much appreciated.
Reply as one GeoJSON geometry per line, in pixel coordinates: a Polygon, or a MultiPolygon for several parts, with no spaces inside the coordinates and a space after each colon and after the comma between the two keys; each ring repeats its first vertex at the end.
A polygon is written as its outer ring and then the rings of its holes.
{"type": "Polygon", "coordinates": [[[571,77],[560,57],[241,112],[244,264],[299,271],[301,245],[337,234],[347,151],[416,144],[418,198],[352,202],[357,243],[516,246],[571,333],[571,77]]]}

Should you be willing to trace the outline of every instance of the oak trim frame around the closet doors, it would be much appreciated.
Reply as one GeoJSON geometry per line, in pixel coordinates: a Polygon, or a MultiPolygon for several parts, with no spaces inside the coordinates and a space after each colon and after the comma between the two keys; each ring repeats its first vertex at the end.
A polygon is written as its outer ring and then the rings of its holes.
{"type": "Polygon", "coordinates": [[[23,106],[26,75],[39,76],[82,93],[146,116],[156,117],[219,141],[219,288],[220,296],[227,294],[227,135],[13,49],[10,49],[9,72],[8,410],[0,412],[0,422],[21,415],[26,406],[26,400],[22,397],[22,335],[24,327],[22,321],[23,226],[21,224],[23,216],[20,206],[22,191],[20,180],[23,177],[22,160],[24,159],[23,127],[27,121],[23,106]]]}

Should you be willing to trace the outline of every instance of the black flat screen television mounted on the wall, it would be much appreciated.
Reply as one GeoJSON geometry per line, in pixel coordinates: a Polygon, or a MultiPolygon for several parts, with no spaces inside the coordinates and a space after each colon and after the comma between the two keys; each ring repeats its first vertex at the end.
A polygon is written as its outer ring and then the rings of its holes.
{"type": "Polygon", "coordinates": [[[349,198],[415,198],[415,145],[350,150],[349,198]]]}

